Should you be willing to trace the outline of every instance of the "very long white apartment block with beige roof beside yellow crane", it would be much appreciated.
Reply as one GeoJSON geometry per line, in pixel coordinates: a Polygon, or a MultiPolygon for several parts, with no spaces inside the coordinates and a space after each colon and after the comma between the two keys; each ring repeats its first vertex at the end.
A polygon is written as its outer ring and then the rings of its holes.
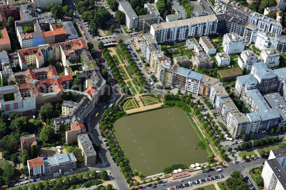
{"type": "Polygon", "coordinates": [[[151,26],[150,34],[156,38],[158,43],[164,43],[215,34],[216,30],[217,17],[208,15],[154,24],[151,26]]]}

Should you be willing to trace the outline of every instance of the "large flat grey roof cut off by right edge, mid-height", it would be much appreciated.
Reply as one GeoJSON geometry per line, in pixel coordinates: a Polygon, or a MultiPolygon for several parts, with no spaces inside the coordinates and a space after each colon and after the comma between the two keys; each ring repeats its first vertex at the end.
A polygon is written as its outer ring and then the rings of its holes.
{"type": "Polygon", "coordinates": [[[280,120],[286,120],[286,102],[279,93],[266,94],[264,96],[271,108],[274,108],[280,115],[280,120]]]}

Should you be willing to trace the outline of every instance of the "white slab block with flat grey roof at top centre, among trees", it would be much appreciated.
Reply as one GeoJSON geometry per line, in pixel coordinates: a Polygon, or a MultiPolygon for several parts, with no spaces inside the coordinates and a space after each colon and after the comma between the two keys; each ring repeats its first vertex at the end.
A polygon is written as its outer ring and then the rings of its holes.
{"type": "Polygon", "coordinates": [[[119,3],[118,10],[125,13],[124,22],[127,28],[136,29],[138,25],[138,16],[135,11],[132,9],[128,1],[123,1],[119,3]]]}

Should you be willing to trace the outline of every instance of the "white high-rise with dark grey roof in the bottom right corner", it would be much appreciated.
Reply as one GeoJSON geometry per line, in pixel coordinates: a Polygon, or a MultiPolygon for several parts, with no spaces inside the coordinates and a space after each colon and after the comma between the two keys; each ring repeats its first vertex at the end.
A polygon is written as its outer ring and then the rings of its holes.
{"type": "Polygon", "coordinates": [[[267,190],[286,189],[286,148],[271,150],[265,161],[262,178],[267,190]]]}

